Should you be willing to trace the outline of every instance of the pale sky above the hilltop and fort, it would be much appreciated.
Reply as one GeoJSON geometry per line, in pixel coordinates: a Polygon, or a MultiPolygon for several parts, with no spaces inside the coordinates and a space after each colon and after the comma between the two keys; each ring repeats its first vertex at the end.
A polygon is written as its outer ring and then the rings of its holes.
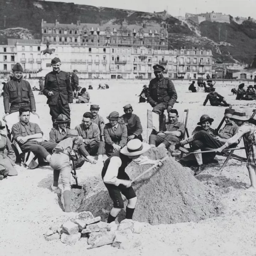
{"type": "Polygon", "coordinates": [[[189,13],[222,12],[233,17],[256,18],[256,0],[51,0],[54,2],[74,2],[75,4],[97,7],[112,7],[145,12],[168,10],[172,16],[189,13]]]}

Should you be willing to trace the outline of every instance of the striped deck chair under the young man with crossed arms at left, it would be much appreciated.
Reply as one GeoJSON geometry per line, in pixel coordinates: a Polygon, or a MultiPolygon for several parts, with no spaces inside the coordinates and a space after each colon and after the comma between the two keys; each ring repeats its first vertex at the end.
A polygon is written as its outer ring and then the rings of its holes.
{"type": "MultiPolygon", "coordinates": [[[[11,143],[15,147],[15,153],[17,158],[21,159],[21,164],[28,169],[34,169],[38,166],[38,156],[33,152],[23,153],[18,142],[13,138],[11,129],[12,126],[19,122],[19,112],[14,112],[5,117],[6,135],[9,137],[11,143]]],[[[40,126],[40,121],[37,115],[31,113],[30,122],[37,123],[40,126]]]]}

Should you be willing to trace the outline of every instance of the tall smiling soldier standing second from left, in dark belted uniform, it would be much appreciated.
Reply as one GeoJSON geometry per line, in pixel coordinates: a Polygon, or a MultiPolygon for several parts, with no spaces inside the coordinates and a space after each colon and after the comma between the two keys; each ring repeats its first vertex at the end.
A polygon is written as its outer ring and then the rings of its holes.
{"type": "Polygon", "coordinates": [[[60,70],[60,59],[52,59],[53,71],[48,73],[44,80],[43,94],[48,98],[47,104],[50,108],[53,126],[59,114],[64,114],[68,119],[70,128],[70,108],[69,103],[73,103],[73,93],[70,84],[69,74],[60,70]]]}

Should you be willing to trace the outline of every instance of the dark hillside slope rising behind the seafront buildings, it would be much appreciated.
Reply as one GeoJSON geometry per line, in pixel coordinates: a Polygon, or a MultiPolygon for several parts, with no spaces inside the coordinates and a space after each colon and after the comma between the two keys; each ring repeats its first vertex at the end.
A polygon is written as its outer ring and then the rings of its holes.
{"type": "Polygon", "coordinates": [[[60,23],[80,20],[81,23],[121,24],[125,18],[129,24],[153,25],[164,21],[169,32],[169,48],[210,48],[215,58],[229,62],[250,63],[256,46],[256,23],[248,21],[242,25],[233,21],[230,24],[205,21],[197,25],[165,14],[35,0],[0,0],[0,43],[5,43],[7,37],[40,39],[42,18],[47,22],[57,19],[60,23]],[[15,28],[14,33],[8,28],[15,28]]]}

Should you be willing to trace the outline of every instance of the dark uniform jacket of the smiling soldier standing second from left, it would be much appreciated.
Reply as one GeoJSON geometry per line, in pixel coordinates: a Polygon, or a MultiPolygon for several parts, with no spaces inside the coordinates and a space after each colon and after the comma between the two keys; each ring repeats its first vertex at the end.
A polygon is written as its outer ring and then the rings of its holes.
{"type": "Polygon", "coordinates": [[[64,71],[48,73],[44,80],[43,94],[48,98],[47,104],[49,105],[57,105],[59,99],[64,105],[73,103],[69,74],[64,71]],[[49,96],[49,91],[52,91],[54,95],[49,96]]]}

